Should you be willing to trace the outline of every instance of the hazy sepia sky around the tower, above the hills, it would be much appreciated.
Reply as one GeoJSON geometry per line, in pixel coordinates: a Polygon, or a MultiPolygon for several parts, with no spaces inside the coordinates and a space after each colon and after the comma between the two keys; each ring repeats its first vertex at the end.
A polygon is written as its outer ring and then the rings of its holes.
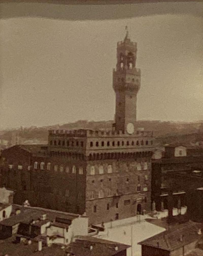
{"type": "MultiPolygon", "coordinates": [[[[60,6],[67,20],[51,19],[54,5],[47,9],[50,17],[5,18],[8,5],[0,5],[1,127],[112,120],[112,70],[116,43],[124,38],[126,25],[138,44],[141,69],[137,118],[203,119],[203,3],[181,3],[187,10],[191,5],[191,13],[126,19],[103,19],[106,7],[97,6],[101,20],[70,20],[73,6],[60,6]]],[[[9,8],[16,12],[22,5],[9,8]]],[[[84,7],[77,8],[82,13],[84,7]]],[[[113,5],[108,14],[136,13],[137,8],[145,11],[149,4],[113,5]]],[[[164,4],[156,8],[164,9],[164,4]]]]}

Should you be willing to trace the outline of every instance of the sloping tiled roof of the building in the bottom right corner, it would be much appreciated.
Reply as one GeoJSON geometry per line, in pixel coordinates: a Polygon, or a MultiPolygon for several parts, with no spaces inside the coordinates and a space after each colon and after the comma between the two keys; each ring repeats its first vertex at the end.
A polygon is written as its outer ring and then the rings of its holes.
{"type": "Polygon", "coordinates": [[[173,251],[183,245],[202,239],[203,234],[198,234],[198,230],[202,228],[202,223],[188,221],[141,241],[138,244],[173,251]]]}

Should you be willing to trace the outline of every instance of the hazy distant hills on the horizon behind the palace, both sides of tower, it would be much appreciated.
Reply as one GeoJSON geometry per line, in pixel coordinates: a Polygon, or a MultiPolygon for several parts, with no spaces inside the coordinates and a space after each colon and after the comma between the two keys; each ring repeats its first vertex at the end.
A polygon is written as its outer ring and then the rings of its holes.
{"type": "MultiPolygon", "coordinates": [[[[39,140],[47,141],[47,131],[50,129],[64,129],[64,130],[77,130],[77,129],[111,129],[114,121],[87,121],[79,120],[73,123],[56,124],[44,127],[32,126],[28,128],[20,127],[15,130],[0,131],[0,139],[11,141],[12,136],[17,134],[24,140],[39,140]]],[[[197,141],[203,141],[203,121],[195,123],[186,122],[172,122],[172,121],[137,121],[137,127],[142,127],[148,131],[154,131],[154,135],[157,138],[157,142],[160,144],[166,144],[171,142],[188,142],[196,143],[197,141]]]]}

